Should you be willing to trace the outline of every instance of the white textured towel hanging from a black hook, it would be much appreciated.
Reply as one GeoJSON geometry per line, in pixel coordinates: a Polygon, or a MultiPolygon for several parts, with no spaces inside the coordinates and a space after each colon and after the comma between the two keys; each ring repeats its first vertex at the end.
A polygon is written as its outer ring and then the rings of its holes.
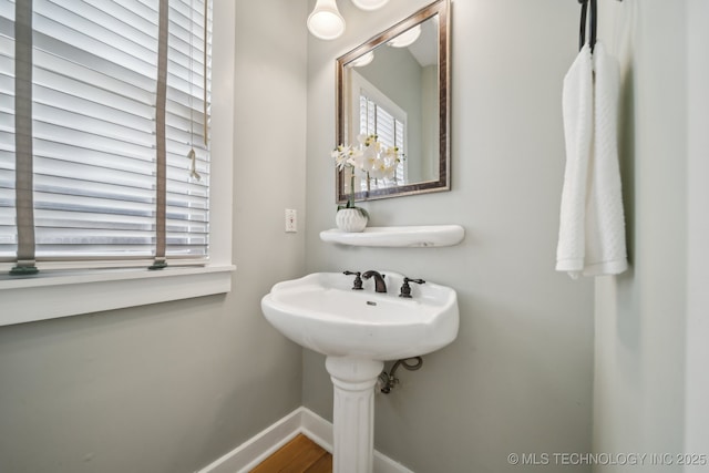
{"type": "Polygon", "coordinates": [[[596,42],[564,78],[566,171],[556,270],[573,278],[627,269],[625,218],[618,169],[619,68],[596,42]],[[595,76],[594,76],[595,70],[595,76]]]}

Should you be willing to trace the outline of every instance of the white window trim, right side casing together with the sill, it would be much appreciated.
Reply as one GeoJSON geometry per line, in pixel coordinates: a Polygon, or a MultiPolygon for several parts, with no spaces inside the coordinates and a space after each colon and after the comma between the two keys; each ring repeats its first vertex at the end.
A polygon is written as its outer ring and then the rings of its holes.
{"type": "Polygon", "coordinates": [[[42,270],[0,276],[0,326],[229,292],[232,263],[234,2],[213,4],[209,259],[204,266],[42,270]],[[218,97],[218,100],[216,100],[218,97]]]}

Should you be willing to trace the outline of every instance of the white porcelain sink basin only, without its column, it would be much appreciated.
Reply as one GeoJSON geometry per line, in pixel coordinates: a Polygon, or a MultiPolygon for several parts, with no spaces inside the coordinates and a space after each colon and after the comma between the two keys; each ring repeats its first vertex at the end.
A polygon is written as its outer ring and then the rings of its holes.
{"type": "Polygon", "coordinates": [[[373,278],[352,290],[353,276],[315,273],[275,285],[261,300],[266,319],[296,343],[333,357],[397,360],[445,347],[458,336],[458,297],[449,287],[411,284],[399,297],[403,276],[386,275],[388,292],[373,278]]]}

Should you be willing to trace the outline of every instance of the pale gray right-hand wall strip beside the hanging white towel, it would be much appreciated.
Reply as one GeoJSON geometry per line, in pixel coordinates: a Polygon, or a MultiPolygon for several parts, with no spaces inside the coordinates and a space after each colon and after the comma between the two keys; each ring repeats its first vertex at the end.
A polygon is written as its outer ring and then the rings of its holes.
{"type": "Polygon", "coordinates": [[[674,454],[682,451],[684,418],[685,2],[625,7],[634,10],[620,17],[630,28],[621,60],[633,269],[597,288],[594,449],[674,454]]]}

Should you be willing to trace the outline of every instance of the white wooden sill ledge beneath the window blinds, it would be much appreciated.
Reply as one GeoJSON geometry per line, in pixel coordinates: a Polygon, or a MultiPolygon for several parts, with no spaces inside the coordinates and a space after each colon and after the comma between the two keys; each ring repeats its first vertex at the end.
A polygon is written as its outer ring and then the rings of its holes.
{"type": "Polygon", "coordinates": [[[0,279],[0,326],[228,292],[232,265],[56,271],[0,279]]]}

